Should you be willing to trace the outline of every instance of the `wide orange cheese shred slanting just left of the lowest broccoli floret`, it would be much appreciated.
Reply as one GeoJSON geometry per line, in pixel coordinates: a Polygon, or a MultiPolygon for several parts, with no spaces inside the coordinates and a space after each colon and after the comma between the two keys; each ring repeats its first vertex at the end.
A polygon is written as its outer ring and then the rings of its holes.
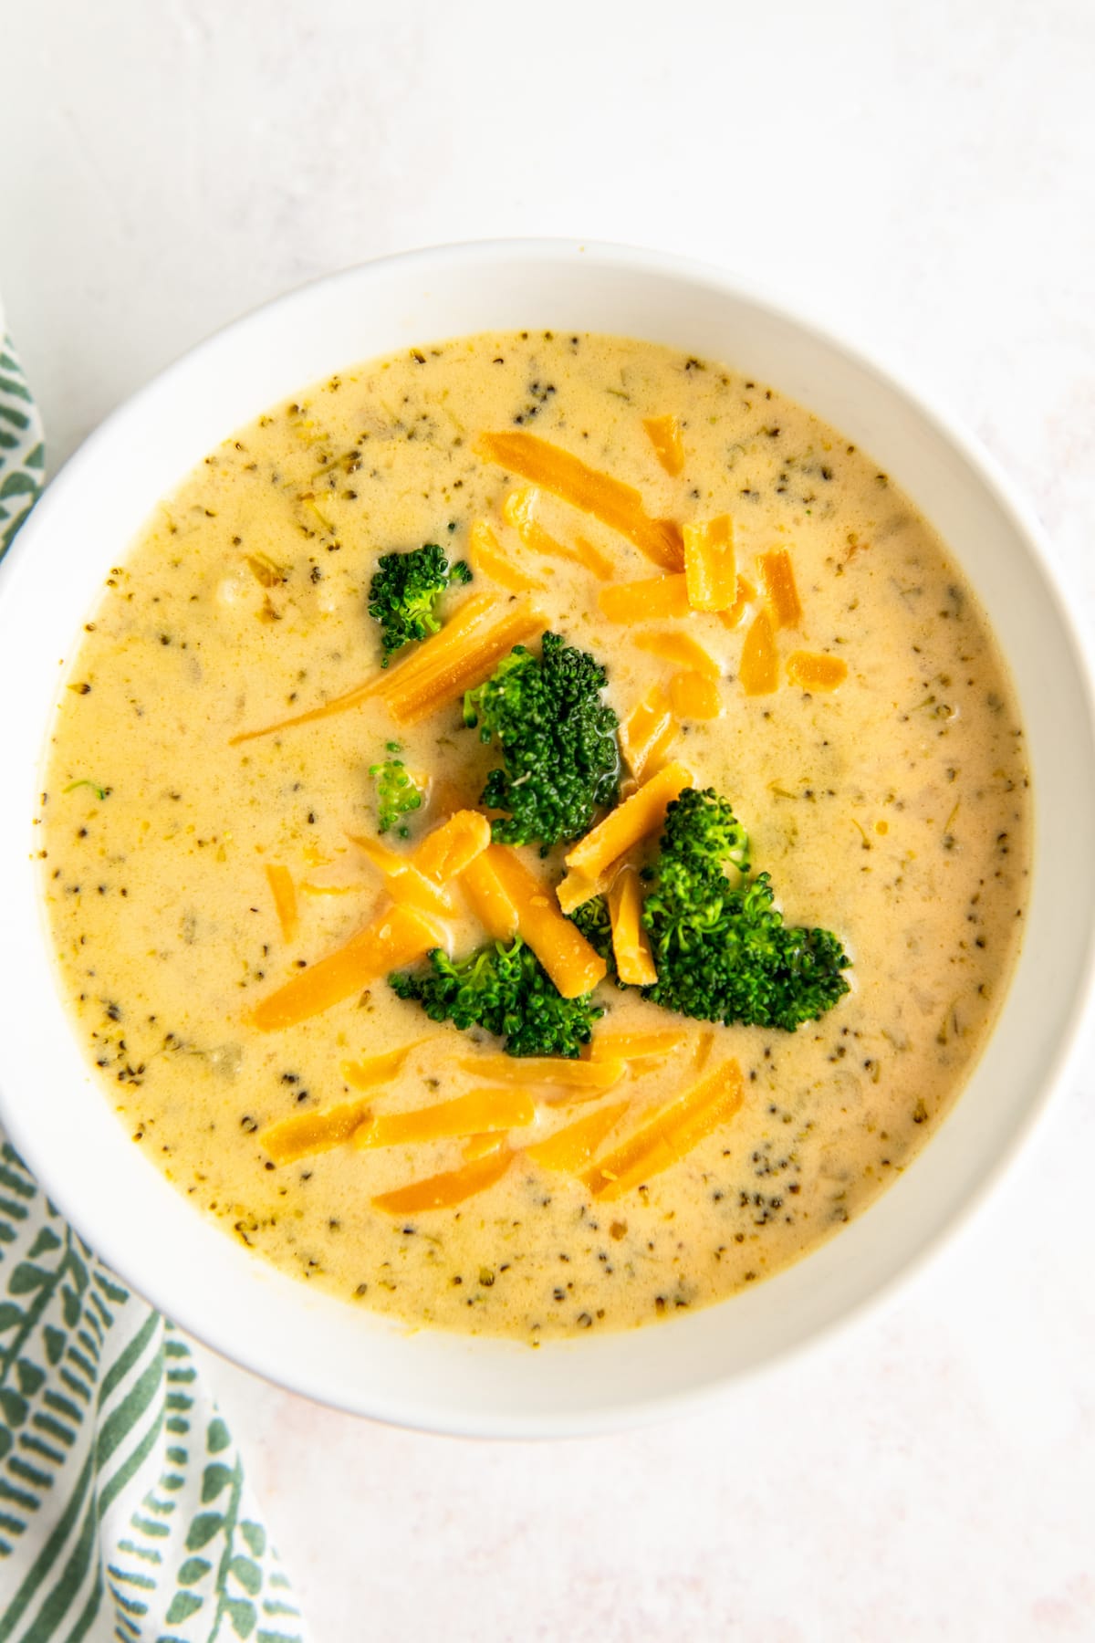
{"type": "Polygon", "coordinates": [[[437,930],[414,907],[384,907],[363,930],[284,987],[268,994],[251,1014],[259,1032],[279,1032],[341,1004],[371,981],[437,946],[437,930]]]}

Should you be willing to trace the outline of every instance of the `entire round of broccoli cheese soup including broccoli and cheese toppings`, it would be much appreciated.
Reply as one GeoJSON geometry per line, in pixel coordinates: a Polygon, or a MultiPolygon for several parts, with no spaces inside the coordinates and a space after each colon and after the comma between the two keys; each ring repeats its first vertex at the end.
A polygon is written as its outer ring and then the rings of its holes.
{"type": "Polygon", "coordinates": [[[120,552],[41,871],[103,1096],[277,1267],[529,1342],[757,1283],[946,1116],[1023,726],[947,547],[731,365],[422,345],[120,552]]]}

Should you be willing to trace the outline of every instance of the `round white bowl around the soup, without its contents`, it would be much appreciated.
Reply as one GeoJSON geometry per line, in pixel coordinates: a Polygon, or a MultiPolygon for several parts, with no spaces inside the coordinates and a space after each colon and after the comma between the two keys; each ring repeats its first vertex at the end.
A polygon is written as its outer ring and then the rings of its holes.
{"type": "Polygon", "coordinates": [[[202,343],[117,411],[0,567],[0,1106],[92,1247],[194,1334],[323,1403],[410,1426],[548,1436],[691,1403],[814,1339],[954,1229],[1062,1071],[1092,971],[1095,741],[1084,657],[1038,529],[987,458],[890,376],[739,279],[648,251],[448,246],[355,268],[202,343]],[[601,330],[724,360],[809,406],[905,486],[1011,664],[1036,795],[1026,943],[992,1042],[923,1157],[804,1262],[721,1306],[532,1352],[409,1332],[282,1277],[177,1194],[103,1099],[53,981],[31,817],[80,623],[159,496],[266,406],[358,360],[488,329],[601,330]]]}

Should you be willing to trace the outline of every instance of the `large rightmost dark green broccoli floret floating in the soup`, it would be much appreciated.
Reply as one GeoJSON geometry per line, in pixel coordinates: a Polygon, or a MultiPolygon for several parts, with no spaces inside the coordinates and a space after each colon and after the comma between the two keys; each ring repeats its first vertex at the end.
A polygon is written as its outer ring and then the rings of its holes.
{"type": "Polygon", "coordinates": [[[767,872],[749,879],[749,840],[724,798],[696,789],[668,807],[642,922],[658,971],[645,997],[727,1027],[795,1032],[849,984],[829,930],[785,925],[767,872]],[[732,877],[724,872],[732,868],[732,877]]]}

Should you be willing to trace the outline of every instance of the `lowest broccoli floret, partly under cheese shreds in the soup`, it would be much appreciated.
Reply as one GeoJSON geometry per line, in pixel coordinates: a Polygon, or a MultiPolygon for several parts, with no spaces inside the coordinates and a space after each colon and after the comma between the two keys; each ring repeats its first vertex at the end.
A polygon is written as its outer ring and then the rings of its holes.
{"type": "Polygon", "coordinates": [[[484,1027],[504,1038],[507,1055],[561,1055],[573,1060],[589,1043],[604,1010],[589,994],[565,999],[530,946],[515,937],[451,960],[435,948],[430,969],[396,971],[389,986],[414,999],[430,1020],[484,1027]]]}

